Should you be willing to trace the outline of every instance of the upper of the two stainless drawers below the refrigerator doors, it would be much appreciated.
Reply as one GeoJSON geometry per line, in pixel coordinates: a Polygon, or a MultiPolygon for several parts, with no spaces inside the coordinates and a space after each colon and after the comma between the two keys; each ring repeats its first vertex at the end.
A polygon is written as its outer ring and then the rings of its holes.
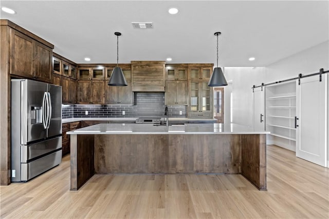
{"type": "Polygon", "coordinates": [[[62,136],[38,142],[31,145],[21,145],[21,162],[27,163],[29,160],[53,150],[62,148],[62,136]]]}

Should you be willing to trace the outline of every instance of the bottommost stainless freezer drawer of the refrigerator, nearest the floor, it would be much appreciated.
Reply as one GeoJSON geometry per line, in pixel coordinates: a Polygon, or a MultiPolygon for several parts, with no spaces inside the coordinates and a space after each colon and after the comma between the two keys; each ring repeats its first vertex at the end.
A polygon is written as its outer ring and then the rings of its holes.
{"type": "Polygon", "coordinates": [[[62,150],[59,150],[30,163],[21,164],[21,181],[28,181],[52,167],[59,165],[61,161],[62,150]]]}

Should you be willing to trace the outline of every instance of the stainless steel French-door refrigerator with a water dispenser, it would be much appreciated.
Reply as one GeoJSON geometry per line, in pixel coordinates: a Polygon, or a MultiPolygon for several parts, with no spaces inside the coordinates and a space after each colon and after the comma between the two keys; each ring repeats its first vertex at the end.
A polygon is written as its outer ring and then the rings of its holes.
{"type": "Polygon", "coordinates": [[[62,87],[11,79],[11,181],[26,182],[62,161],[62,87]]]}

